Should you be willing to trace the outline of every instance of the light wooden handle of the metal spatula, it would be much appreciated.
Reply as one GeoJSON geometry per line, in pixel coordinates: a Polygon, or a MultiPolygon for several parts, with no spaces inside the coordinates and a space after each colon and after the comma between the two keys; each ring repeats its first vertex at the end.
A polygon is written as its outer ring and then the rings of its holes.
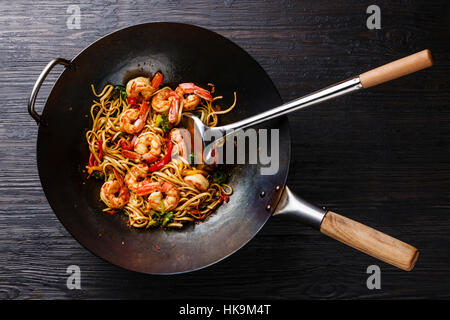
{"type": "Polygon", "coordinates": [[[431,67],[432,65],[433,58],[431,57],[430,50],[427,49],[364,72],[359,75],[359,80],[363,88],[369,88],[431,67]]]}

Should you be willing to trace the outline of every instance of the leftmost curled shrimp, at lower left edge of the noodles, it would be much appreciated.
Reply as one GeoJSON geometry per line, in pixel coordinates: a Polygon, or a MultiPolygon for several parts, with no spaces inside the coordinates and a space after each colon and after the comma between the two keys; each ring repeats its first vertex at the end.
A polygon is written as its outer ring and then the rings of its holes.
{"type": "Polygon", "coordinates": [[[123,184],[123,178],[120,174],[115,169],[113,170],[116,180],[109,180],[103,184],[100,190],[100,198],[108,207],[120,209],[130,200],[130,192],[123,184]]]}

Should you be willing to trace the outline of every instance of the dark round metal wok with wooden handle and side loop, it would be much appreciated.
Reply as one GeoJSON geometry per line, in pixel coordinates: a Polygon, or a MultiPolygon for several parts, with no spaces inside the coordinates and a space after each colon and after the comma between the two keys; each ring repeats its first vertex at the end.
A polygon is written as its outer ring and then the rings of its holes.
{"type": "Polygon", "coordinates": [[[356,249],[411,270],[414,247],[333,212],[311,205],[285,186],[291,141],[287,118],[254,128],[279,129],[279,170],[260,175],[260,165],[229,166],[234,193],[205,222],[182,230],[130,228],[121,214],[102,213],[101,183],[87,180],[85,132],[93,100],[108,83],[126,84],[139,75],[164,74],[164,85],[213,82],[224,105],[238,92],[238,107],[221,117],[234,123],[281,105],[280,95],[259,64],[230,40],[180,23],[147,23],[104,36],[72,60],[56,58],[43,70],[28,109],[39,125],[37,166],[45,195],[58,219],[85,248],[126,269],[174,274],[211,265],[245,245],[272,215],[290,216],[356,249]],[[208,44],[205,46],[205,43],[208,44]],[[51,69],[66,68],[55,82],[42,114],[34,110],[37,93],[51,69]]]}

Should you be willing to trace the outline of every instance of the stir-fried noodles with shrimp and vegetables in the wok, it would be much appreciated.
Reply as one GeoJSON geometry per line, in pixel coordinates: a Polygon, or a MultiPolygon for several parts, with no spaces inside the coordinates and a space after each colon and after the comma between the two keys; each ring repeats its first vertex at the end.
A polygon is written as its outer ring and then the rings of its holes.
{"type": "Polygon", "coordinates": [[[86,132],[90,158],[88,178],[103,180],[100,198],[107,213],[123,212],[136,228],[176,227],[205,220],[233,190],[217,166],[194,164],[178,127],[183,112],[196,114],[208,126],[230,112],[217,106],[214,86],[206,90],[182,83],[162,87],[162,74],[138,77],[126,88],[106,85],[96,92],[86,132]]]}

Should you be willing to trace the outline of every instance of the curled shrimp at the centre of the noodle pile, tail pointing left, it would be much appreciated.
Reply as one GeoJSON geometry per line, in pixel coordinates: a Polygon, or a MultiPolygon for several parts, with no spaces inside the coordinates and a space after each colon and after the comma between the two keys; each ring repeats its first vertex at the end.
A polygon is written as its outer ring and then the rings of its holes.
{"type": "Polygon", "coordinates": [[[122,150],[122,155],[132,160],[155,162],[161,155],[161,141],[153,132],[140,134],[134,143],[134,151],[122,150]]]}

